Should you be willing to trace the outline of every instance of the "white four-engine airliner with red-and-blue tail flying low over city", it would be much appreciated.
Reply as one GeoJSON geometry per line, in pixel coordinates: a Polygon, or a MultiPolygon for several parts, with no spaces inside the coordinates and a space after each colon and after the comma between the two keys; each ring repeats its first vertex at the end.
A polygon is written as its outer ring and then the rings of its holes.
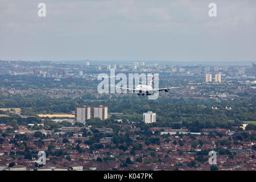
{"type": "Polygon", "coordinates": [[[160,88],[160,89],[154,89],[152,88],[152,82],[154,80],[154,76],[152,76],[150,84],[149,85],[137,85],[135,89],[127,88],[127,87],[120,87],[120,86],[115,86],[117,88],[121,88],[122,90],[133,90],[135,93],[138,93],[138,96],[151,96],[152,93],[158,92],[158,91],[163,91],[164,92],[169,92],[171,89],[176,89],[180,88],[181,86],[178,87],[169,87],[169,88],[160,88]]]}

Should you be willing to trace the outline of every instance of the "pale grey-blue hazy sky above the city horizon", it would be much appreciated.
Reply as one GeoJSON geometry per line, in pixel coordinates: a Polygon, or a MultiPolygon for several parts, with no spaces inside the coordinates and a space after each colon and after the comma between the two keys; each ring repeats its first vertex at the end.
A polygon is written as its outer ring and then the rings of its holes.
{"type": "Polygon", "coordinates": [[[255,32],[255,0],[0,0],[0,60],[251,61],[255,32]]]}

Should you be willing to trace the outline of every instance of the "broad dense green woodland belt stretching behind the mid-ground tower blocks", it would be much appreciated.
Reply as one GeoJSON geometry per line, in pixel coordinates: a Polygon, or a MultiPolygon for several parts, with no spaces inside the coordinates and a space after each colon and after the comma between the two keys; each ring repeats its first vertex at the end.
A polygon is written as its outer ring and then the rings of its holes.
{"type": "MultiPolygon", "coordinates": [[[[85,97],[92,97],[89,93],[85,97]]],[[[251,100],[193,100],[159,97],[148,100],[147,97],[112,97],[107,95],[104,100],[80,99],[52,99],[46,96],[5,98],[0,101],[0,107],[22,107],[23,115],[72,113],[75,106],[108,106],[110,112],[120,112],[123,115],[113,115],[114,119],[129,119],[130,122],[141,122],[144,112],[156,113],[156,123],[152,127],[182,126],[193,132],[210,127],[230,128],[241,126],[242,121],[256,121],[255,98],[251,100]],[[231,107],[231,110],[225,107],[231,107]],[[28,108],[27,108],[28,107],[28,108]],[[218,109],[212,109],[217,107],[218,109]]]]}

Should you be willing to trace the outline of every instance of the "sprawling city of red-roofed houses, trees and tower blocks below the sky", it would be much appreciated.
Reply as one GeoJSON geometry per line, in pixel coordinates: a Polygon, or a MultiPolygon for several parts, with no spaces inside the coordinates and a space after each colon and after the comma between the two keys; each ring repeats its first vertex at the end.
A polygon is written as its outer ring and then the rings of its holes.
{"type": "Polygon", "coordinates": [[[1,170],[255,170],[254,63],[82,63],[1,61],[1,170]],[[110,69],[181,87],[154,101],[100,94],[110,69]]]}

